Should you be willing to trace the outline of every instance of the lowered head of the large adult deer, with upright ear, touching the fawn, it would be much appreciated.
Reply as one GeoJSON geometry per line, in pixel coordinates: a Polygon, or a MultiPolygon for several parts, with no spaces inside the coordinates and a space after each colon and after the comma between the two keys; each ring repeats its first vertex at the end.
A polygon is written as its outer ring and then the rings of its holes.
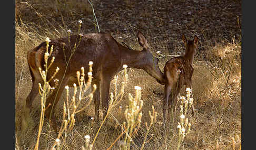
{"type": "Polygon", "coordinates": [[[149,73],[152,77],[156,78],[156,81],[160,84],[163,84],[162,77],[163,73],[160,71],[158,66],[159,59],[154,57],[150,51],[149,44],[147,43],[146,38],[143,34],[139,31],[137,34],[138,41],[140,46],[143,47],[143,55],[141,58],[142,69],[149,73]]]}

